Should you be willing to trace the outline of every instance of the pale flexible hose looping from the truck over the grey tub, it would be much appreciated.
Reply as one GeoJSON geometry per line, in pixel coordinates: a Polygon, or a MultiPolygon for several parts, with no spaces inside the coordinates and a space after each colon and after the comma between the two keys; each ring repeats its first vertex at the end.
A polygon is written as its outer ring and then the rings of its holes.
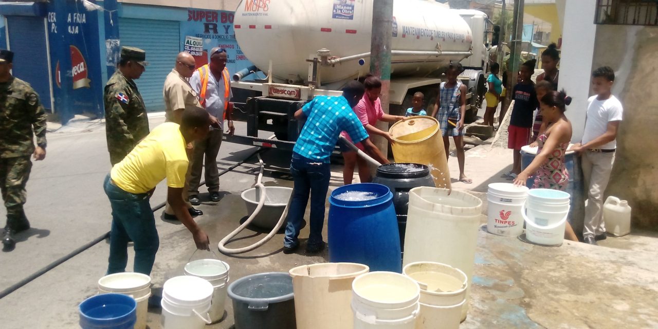
{"type": "MultiPolygon", "coordinates": [[[[272,139],[272,138],[274,138],[274,135],[270,136],[268,139],[272,139]]],[[[233,232],[228,234],[228,236],[225,236],[222,239],[222,241],[219,241],[219,244],[218,244],[219,251],[221,253],[223,253],[224,255],[236,255],[236,254],[239,254],[239,253],[246,253],[247,251],[252,251],[252,250],[254,250],[258,247],[261,247],[262,245],[267,243],[267,241],[270,241],[270,239],[272,239],[272,237],[274,237],[276,232],[279,231],[281,226],[286,221],[286,216],[288,215],[288,207],[290,206],[290,200],[292,199],[292,195],[293,195],[294,191],[293,191],[293,193],[290,194],[290,199],[288,199],[288,204],[286,205],[286,208],[284,209],[284,212],[281,214],[281,217],[279,218],[279,221],[276,222],[276,225],[274,226],[274,228],[272,228],[272,231],[269,234],[267,234],[267,236],[265,236],[265,238],[261,239],[260,241],[258,241],[256,243],[253,243],[252,245],[248,245],[247,247],[241,247],[241,248],[238,248],[238,249],[230,249],[230,248],[226,247],[226,244],[228,243],[228,241],[235,238],[235,236],[237,236],[242,230],[244,230],[247,226],[249,226],[249,224],[251,224],[251,221],[253,220],[253,218],[255,218],[261,212],[261,209],[263,208],[263,205],[265,205],[265,200],[266,200],[265,190],[266,190],[266,188],[261,183],[261,180],[263,180],[263,170],[265,168],[265,163],[263,163],[263,159],[261,159],[260,154],[258,154],[257,156],[258,156],[258,163],[261,165],[261,171],[258,174],[258,180],[256,181],[256,186],[255,186],[259,190],[259,193],[260,193],[259,194],[258,205],[256,206],[256,210],[253,211],[251,216],[249,216],[249,218],[247,218],[247,220],[245,220],[245,222],[243,222],[240,226],[238,226],[238,228],[236,228],[233,232]]]]}

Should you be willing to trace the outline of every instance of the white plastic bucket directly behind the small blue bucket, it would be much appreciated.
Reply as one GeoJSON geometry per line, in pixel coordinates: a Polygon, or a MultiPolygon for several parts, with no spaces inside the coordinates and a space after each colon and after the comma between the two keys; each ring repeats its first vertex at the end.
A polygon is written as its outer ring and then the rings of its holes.
{"type": "Polygon", "coordinates": [[[98,280],[98,290],[101,293],[121,293],[128,295],[137,302],[137,321],[134,329],[146,328],[146,315],[151,297],[151,277],[142,273],[121,272],[103,276],[98,280]]]}

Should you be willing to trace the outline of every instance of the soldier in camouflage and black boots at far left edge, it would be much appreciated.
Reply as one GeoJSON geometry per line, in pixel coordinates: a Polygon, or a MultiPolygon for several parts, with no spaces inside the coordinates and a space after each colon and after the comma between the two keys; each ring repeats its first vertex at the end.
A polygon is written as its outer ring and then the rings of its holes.
{"type": "Polygon", "coordinates": [[[23,211],[32,169],[30,155],[35,161],[45,159],[46,146],[46,116],[39,95],[30,84],[11,75],[13,58],[13,52],[0,49],[0,190],[7,208],[2,241],[5,250],[16,245],[14,234],[30,228],[23,211]]]}

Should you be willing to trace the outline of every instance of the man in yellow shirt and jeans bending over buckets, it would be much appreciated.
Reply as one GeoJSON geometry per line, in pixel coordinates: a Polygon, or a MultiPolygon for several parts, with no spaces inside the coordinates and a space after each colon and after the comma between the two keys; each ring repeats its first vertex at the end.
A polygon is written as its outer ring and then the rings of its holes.
{"type": "Polygon", "coordinates": [[[112,205],[107,274],[125,272],[128,239],[134,241],[134,272],[151,274],[159,238],[149,199],[164,178],[167,201],[176,216],[192,233],[197,248],[209,250],[208,236],[188,213],[182,193],[190,162],[186,145],[204,139],[210,124],[210,116],[203,109],[185,109],[180,125],[165,122],[157,126],[107,175],[104,188],[112,205]]]}

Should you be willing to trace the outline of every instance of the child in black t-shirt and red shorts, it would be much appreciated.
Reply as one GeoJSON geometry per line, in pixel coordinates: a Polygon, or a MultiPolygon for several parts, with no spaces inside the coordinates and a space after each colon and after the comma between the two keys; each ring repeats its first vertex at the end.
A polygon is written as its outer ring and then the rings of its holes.
{"type": "Polygon", "coordinates": [[[537,109],[537,93],[530,77],[534,72],[536,60],[531,59],[521,65],[520,82],[512,90],[514,108],[509,121],[507,147],[514,150],[512,171],[505,174],[507,180],[514,180],[521,172],[521,147],[530,143],[532,133],[532,114],[537,109]]]}

